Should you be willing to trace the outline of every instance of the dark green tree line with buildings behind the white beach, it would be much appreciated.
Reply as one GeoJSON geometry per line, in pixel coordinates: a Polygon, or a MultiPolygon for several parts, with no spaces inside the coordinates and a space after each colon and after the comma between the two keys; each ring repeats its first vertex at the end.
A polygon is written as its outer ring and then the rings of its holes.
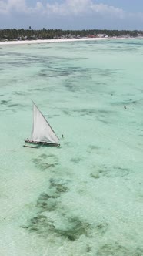
{"type": "Polygon", "coordinates": [[[127,35],[136,37],[143,35],[143,31],[130,30],[108,30],[108,29],[89,29],[89,30],[62,30],[62,29],[39,29],[35,30],[29,26],[29,29],[0,29],[0,40],[25,40],[25,39],[59,39],[70,37],[90,37],[98,35],[107,35],[108,37],[119,37],[127,35]]]}

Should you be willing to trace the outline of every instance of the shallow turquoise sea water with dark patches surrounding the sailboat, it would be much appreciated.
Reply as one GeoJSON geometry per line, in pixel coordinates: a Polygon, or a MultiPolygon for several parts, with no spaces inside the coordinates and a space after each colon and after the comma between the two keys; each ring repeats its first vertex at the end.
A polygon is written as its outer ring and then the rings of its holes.
{"type": "Polygon", "coordinates": [[[139,39],[1,45],[1,256],[143,255],[142,56],[139,39]],[[60,148],[22,147],[31,99],[60,148]]]}

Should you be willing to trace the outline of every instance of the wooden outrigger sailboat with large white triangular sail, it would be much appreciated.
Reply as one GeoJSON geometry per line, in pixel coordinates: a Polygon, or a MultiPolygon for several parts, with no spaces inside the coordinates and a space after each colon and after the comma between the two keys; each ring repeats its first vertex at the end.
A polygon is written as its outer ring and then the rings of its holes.
{"type": "MultiPolygon", "coordinates": [[[[32,101],[33,102],[33,101],[32,101]]],[[[33,126],[30,139],[25,139],[25,143],[35,144],[37,146],[59,147],[59,139],[54,130],[43,116],[38,106],[33,102],[33,126]]],[[[25,147],[30,147],[26,146],[25,147]]]]}

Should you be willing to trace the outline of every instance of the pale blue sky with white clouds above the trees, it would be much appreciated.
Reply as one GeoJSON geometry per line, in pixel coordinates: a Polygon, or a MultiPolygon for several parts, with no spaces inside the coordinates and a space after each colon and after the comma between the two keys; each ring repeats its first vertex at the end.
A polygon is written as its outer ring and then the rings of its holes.
{"type": "Polygon", "coordinates": [[[0,29],[143,30],[143,0],[0,0],[0,29]]]}

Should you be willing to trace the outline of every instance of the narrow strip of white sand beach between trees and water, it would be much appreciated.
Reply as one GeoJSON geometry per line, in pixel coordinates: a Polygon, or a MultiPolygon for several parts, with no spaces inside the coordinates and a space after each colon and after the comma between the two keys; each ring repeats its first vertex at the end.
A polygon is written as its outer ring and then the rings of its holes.
{"type": "MultiPolygon", "coordinates": [[[[136,39],[136,38],[81,38],[81,39],[38,39],[38,40],[25,40],[25,41],[2,41],[0,45],[24,45],[24,44],[41,44],[41,43],[53,43],[53,42],[81,42],[81,41],[101,41],[101,40],[123,40],[123,39],[136,39]]],[[[141,39],[141,38],[139,38],[141,39]]]]}

